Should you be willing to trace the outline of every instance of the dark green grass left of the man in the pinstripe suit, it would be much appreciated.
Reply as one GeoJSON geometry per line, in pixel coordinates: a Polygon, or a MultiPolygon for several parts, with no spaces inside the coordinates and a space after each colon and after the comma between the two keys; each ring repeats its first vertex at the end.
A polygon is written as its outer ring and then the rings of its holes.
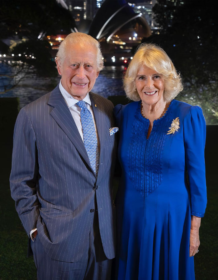
{"type": "Polygon", "coordinates": [[[1,141],[1,193],[0,193],[0,279],[35,280],[33,257],[27,258],[28,237],[21,225],[11,198],[9,175],[12,143],[1,141]],[[2,143],[3,142],[3,143],[2,143]]]}

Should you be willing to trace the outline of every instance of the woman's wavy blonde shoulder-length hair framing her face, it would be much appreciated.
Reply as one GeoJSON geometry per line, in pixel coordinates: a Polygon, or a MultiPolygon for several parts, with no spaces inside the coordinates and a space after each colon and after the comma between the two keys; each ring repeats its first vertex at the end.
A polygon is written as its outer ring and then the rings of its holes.
{"type": "Polygon", "coordinates": [[[123,84],[126,96],[139,101],[135,79],[141,66],[147,66],[164,77],[164,100],[167,102],[175,98],[183,90],[182,78],[177,73],[171,59],[165,51],[155,44],[141,44],[126,70],[123,84]]]}

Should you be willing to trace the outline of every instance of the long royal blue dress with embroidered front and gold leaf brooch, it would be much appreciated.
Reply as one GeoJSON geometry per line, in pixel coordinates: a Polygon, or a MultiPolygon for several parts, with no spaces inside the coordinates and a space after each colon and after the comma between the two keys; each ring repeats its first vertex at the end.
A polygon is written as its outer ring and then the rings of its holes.
{"type": "Polygon", "coordinates": [[[205,119],[200,107],[172,100],[147,140],[140,104],[114,108],[122,167],[116,279],[193,280],[191,215],[206,208],[205,119]]]}

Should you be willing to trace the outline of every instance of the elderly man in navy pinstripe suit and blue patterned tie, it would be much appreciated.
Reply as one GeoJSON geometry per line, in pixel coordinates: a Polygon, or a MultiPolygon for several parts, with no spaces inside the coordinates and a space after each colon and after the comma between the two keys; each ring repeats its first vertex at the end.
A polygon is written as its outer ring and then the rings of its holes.
{"type": "Polygon", "coordinates": [[[113,105],[90,92],[103,68],[99,43],[69,34],[56,64],[59,85],[17,117],[12,198],[37,279],[110,279],[116,144],[113,105]]]}

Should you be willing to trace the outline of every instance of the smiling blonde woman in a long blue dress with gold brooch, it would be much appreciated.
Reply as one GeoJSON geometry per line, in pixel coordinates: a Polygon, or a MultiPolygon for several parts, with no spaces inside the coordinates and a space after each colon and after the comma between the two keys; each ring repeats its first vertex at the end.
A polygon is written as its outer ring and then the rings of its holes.
{"type": "Polygon", "coordinates": [[[135,102],[115,107],[122,167],[118,280],[193,280],[206,208],[202,110],[175,100],[180,75],[163,49],[142,44],[124,77],[135,102]]]}

